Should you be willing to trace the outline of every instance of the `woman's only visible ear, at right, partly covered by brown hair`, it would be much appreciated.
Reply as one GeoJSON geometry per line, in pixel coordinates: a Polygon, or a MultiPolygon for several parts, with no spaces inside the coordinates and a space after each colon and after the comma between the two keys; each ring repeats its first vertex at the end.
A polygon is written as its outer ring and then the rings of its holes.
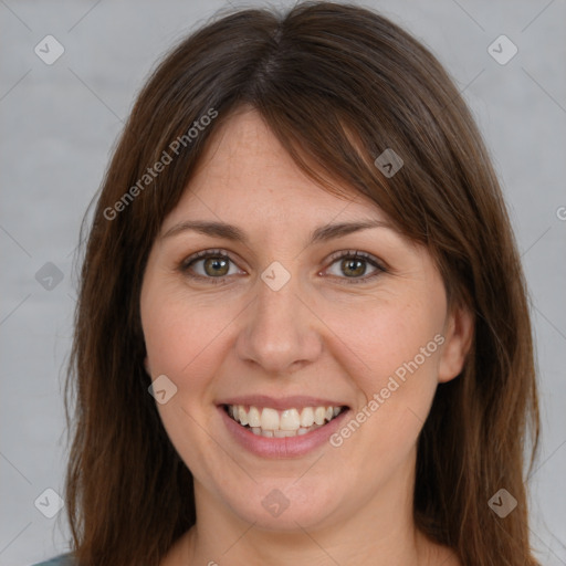
{"type": "Polygon", "coordinates": [[[465,306],[454,306],[444,325],[444,345],[440,355],[438,380],[450,381],[464,366],[465,357],[472,344],[474,317],[465,306]]]}

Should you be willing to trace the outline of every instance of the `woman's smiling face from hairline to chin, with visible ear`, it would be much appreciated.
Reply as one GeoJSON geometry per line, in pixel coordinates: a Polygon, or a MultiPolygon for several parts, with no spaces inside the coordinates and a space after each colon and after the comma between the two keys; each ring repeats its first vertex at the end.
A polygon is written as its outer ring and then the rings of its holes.
{"type": "Polygon", "coordinates": [[[140,310],[197,505],[268,530],[394,512],[465,349],[427,250],[304,176],[253,111],[165,219],[140,310]]]}

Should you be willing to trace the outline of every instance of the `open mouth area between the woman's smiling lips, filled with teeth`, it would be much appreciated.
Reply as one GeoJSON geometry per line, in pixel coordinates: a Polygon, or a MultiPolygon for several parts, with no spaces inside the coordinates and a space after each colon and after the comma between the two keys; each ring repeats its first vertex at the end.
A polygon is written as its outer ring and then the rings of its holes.
{"type": "Polygon", "coordinates": [[[279,411],[271,407],[222,405],[228,416],[254,434],[265,438],[290,438],[307,434],[324,427],[348,409],[346,406],[303,407],[279,411]]]}

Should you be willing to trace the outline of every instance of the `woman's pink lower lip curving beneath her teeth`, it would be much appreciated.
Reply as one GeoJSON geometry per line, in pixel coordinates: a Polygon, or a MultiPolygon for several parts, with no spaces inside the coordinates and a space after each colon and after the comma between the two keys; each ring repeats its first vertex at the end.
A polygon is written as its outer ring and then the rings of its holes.
{"type": "Polygon", "coordinates": [[[318,447],[328,442],[328,438],[339,428],[342,421],[349,412],[345,410],[335,417],[331,422],[317,428],[306,434],[285,438],[260,437],[251,429],[242,427],[228,416],[223,407],[218,407],[226,428],[235,441],[248,451],[263,458],[294,458],[307,454],[318,447]]]}

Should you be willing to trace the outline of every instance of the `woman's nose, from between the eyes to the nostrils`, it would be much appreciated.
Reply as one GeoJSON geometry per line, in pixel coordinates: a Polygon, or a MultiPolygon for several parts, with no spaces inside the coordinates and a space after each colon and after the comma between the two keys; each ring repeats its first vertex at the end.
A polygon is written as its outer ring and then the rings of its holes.
{"type": "Polygon", "coordinates": [[[292,276],[279,291],[258,281],[256,295],[244,312],[235,343],[241,360],[279,376],[292,374],[321,356],[319,319],[301,295],[297,277],[292,276]]]}

